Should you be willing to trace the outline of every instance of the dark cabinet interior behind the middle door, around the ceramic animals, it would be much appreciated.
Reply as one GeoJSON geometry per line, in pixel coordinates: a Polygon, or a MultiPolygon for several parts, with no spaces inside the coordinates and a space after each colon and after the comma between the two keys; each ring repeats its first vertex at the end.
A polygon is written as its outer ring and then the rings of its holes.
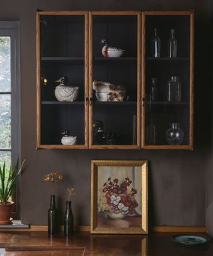
{"type": "MultiPolygon", "coordinates": [[[[97,139],[93,129],[93,145],[135,145],[137,139],[138,104],[138,22],[140,15],[98,15],[93,13],[93,75],[91,81],[107,81],[122,85],[126,90],[124,101],[99,101],[93,90],[93,123],[103,121],[104,136],[97,139]],[[104,57],[101,39],[107,39],[108,47],[124,50],[121,57],[104,57]]],[[[128,147],[128,146],[127,146],[128,147]]]]}

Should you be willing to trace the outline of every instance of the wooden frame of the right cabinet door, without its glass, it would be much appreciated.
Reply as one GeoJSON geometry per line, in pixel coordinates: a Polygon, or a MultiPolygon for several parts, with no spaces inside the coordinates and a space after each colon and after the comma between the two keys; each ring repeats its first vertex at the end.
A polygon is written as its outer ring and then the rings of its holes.
{"type": "Polygon", "coordinates": [[[142,12],[142,149],[194,149],[194,11],[144,11],[142,12]],[[146,145],[146,16],[148,15],[188,15],[190,16],[190,105],[189,105],[189,144],[188,145],[146,145]]]}

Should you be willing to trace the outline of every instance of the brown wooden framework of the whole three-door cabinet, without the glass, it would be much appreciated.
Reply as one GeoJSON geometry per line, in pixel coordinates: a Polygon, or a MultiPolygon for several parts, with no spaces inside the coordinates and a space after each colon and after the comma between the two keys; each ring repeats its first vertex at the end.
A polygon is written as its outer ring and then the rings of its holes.
{"type": "Polygon", "coordinates": [[[194,136],[194,12],[193,11],[37,11],[36,17],[37,149],[193,149],[194,136]],[[41,144],[41,15],[85,16],[85,145],[41,144]],[[93,145],[93,16],[137,16],[137,143],[136,145],[93,145]],[[146,145],[145,135],[145,24],[147,15],[190,15],[190,124],[189,145],[146,145]]]}

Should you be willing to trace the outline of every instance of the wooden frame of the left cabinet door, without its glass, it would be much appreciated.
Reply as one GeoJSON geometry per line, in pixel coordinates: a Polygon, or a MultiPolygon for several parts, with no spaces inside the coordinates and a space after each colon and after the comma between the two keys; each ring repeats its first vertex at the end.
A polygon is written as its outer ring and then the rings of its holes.
{"type": "Polygon", "coordinates": [[[88,11],[37,11],[36,14],[36,83],[37,83],[37,149],[88,149],[89,148],[89,86],[88,86],[88,45],[89,45],[88,11]],[[85,16],[85,144],[84,145],[44,145],[41,144],[41,49],[40,17],[41,15],[83,15],[85,16]]]}

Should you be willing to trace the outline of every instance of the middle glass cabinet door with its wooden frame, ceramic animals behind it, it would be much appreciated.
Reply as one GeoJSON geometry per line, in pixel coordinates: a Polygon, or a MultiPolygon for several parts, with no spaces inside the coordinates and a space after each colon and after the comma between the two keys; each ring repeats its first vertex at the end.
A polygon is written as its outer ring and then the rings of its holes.
{"type": "Polygon", "coordinates": [[[140,12],[91,12],[90,147],[140,147],[140,12]]]}

